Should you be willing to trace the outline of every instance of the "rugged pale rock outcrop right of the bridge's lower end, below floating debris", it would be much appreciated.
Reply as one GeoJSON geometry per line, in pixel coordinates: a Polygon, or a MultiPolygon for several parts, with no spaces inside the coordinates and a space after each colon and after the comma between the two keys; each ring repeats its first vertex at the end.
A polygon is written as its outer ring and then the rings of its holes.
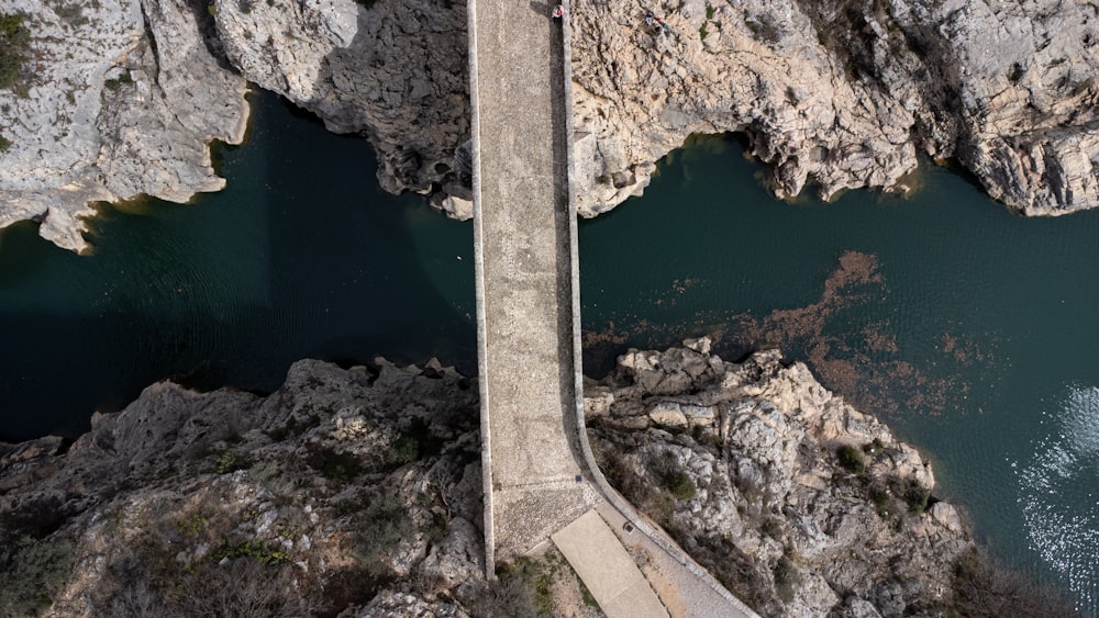
{"type": "Polygon", "coordinates": [[[688,344],[623,355],[586,397],[612,484],[763,615],[948,607],[973,541],[931,464],[777,351],[688,344]]]}

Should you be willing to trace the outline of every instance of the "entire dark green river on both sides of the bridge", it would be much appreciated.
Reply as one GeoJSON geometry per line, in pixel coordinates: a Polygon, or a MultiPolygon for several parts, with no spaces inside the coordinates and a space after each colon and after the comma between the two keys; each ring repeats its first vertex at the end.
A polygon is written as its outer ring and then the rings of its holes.
{"type": "MultiPolygon", "coordinates": [[[[0,234],[0,438],[75,434],[144,385],[269,391],[296,359],[476,369],[473,232],[378,190],[360,139],[258,95],[229,189],[107,210],[78,257],[0,234]]],[[[700,334],[779,346],[932,458],[1012,564],[1096,615],[1099,212],[1024,220],[928,166],[910,199],[771,199],[729,138],[581,222],[585,367],[700,334]]]]}

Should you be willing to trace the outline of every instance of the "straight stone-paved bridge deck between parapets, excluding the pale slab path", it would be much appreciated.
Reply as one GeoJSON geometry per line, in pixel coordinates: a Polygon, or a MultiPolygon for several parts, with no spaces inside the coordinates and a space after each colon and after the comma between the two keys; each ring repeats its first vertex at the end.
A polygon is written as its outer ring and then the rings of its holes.
{"type": "Polygon", "coordinates": [[[562,24],[544,4],[470,11],[486,535],[500,558],[582,514],[574,457],[571,258],[562,24]],[[487,426],[486,426],[487,424],[487,426]]]}

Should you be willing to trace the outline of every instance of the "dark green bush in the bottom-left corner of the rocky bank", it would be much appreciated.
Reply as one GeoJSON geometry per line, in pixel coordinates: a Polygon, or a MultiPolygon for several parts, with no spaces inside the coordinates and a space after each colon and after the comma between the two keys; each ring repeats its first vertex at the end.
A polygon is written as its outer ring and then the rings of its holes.
{"type": "Polygon", "coordinates": [[[0,616],[37,616],[73,571],[73,544],[65,539],[21,537],[0,549],[0,616]]]}

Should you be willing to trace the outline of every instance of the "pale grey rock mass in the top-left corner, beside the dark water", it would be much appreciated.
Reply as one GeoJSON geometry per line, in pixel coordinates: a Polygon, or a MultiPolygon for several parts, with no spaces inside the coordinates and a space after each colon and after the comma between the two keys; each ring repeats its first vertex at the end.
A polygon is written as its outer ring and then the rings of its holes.
{"type": "Polygon", "coordinates": [[[244,79],[219,61],[204,8],[189,0],[0,2],[22,14],[30,59],[0,90],[0,227],[85,248],[98,201],[174,202],[224,186],[208,143],[238,143],[244,79]]]}

